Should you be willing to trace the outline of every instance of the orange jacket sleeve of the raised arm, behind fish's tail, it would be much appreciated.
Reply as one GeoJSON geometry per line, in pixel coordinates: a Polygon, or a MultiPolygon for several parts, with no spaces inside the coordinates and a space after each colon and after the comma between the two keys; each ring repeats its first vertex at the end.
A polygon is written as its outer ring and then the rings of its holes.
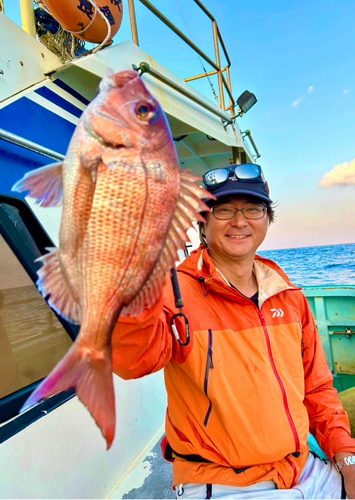
{"type": "MultiPolygon", "coordinates": [[[[173,337],[171,318],[178,310],[169,277],[163,296],[150,309],[137,317],[120,317],[112,335],[113,371],[123,379],[140,378],[164,368],[174,358],[182,362],[191,351],[181,349],[173,337]]],[[[177,318],[176,326],[184,340],[184,324],[177,318]]]]}

